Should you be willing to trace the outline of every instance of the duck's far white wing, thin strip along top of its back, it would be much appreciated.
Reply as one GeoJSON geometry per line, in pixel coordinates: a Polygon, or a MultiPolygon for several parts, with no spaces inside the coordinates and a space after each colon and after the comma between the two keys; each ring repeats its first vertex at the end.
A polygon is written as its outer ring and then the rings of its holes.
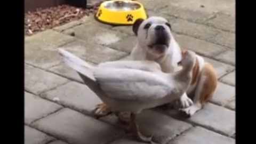
{"type": "Polygon", "coordinates": [[[145,71],[161,71],[161,67],[158,63],[154,61],[133,61],[133,60],[123,60],[123,61],[108,61],[102,62],[98,67],[107,67],[107,68],[130,68],[130,69],[140,69],[145,71]]]}

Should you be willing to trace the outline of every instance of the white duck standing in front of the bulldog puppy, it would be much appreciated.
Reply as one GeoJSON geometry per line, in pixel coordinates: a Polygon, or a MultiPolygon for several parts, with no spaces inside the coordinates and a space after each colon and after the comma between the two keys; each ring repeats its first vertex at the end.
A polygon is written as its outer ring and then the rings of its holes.
{"type": "Polygon", "coordinates": [[[59,53],[112,111],[131,113],[132,128],[143,142],[151,142],[151,137],[140,134],[137,114],[179,99],[189,87],[196,57],[192,51],[185,52],[179,62],[182,69],[167,74],[153,61],[113,61],[92,66],[63,49],[59,53]]]}

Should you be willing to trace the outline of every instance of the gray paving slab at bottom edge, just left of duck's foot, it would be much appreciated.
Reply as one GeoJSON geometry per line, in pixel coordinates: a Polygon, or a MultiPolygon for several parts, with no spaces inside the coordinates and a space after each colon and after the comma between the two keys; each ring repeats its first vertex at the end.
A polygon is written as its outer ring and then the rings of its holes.
{"type": "Polygon", "coordinates": [[[74,144],[107,143],[123,134],[112,125],[68,108],[40,119],[33,126],[59,140],[74,144]]]}

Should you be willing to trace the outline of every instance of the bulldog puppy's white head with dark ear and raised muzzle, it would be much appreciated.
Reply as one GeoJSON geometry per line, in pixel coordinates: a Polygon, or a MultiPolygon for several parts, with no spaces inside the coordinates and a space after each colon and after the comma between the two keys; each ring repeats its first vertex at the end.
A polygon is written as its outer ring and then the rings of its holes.
{"type": "Polygon", "coordinates": [[[170,23],[162,17],[138,19],[133,24],[133,32],[141,47],[150,54],[160,56],[167,53],[172,34],[170,23]]]}

